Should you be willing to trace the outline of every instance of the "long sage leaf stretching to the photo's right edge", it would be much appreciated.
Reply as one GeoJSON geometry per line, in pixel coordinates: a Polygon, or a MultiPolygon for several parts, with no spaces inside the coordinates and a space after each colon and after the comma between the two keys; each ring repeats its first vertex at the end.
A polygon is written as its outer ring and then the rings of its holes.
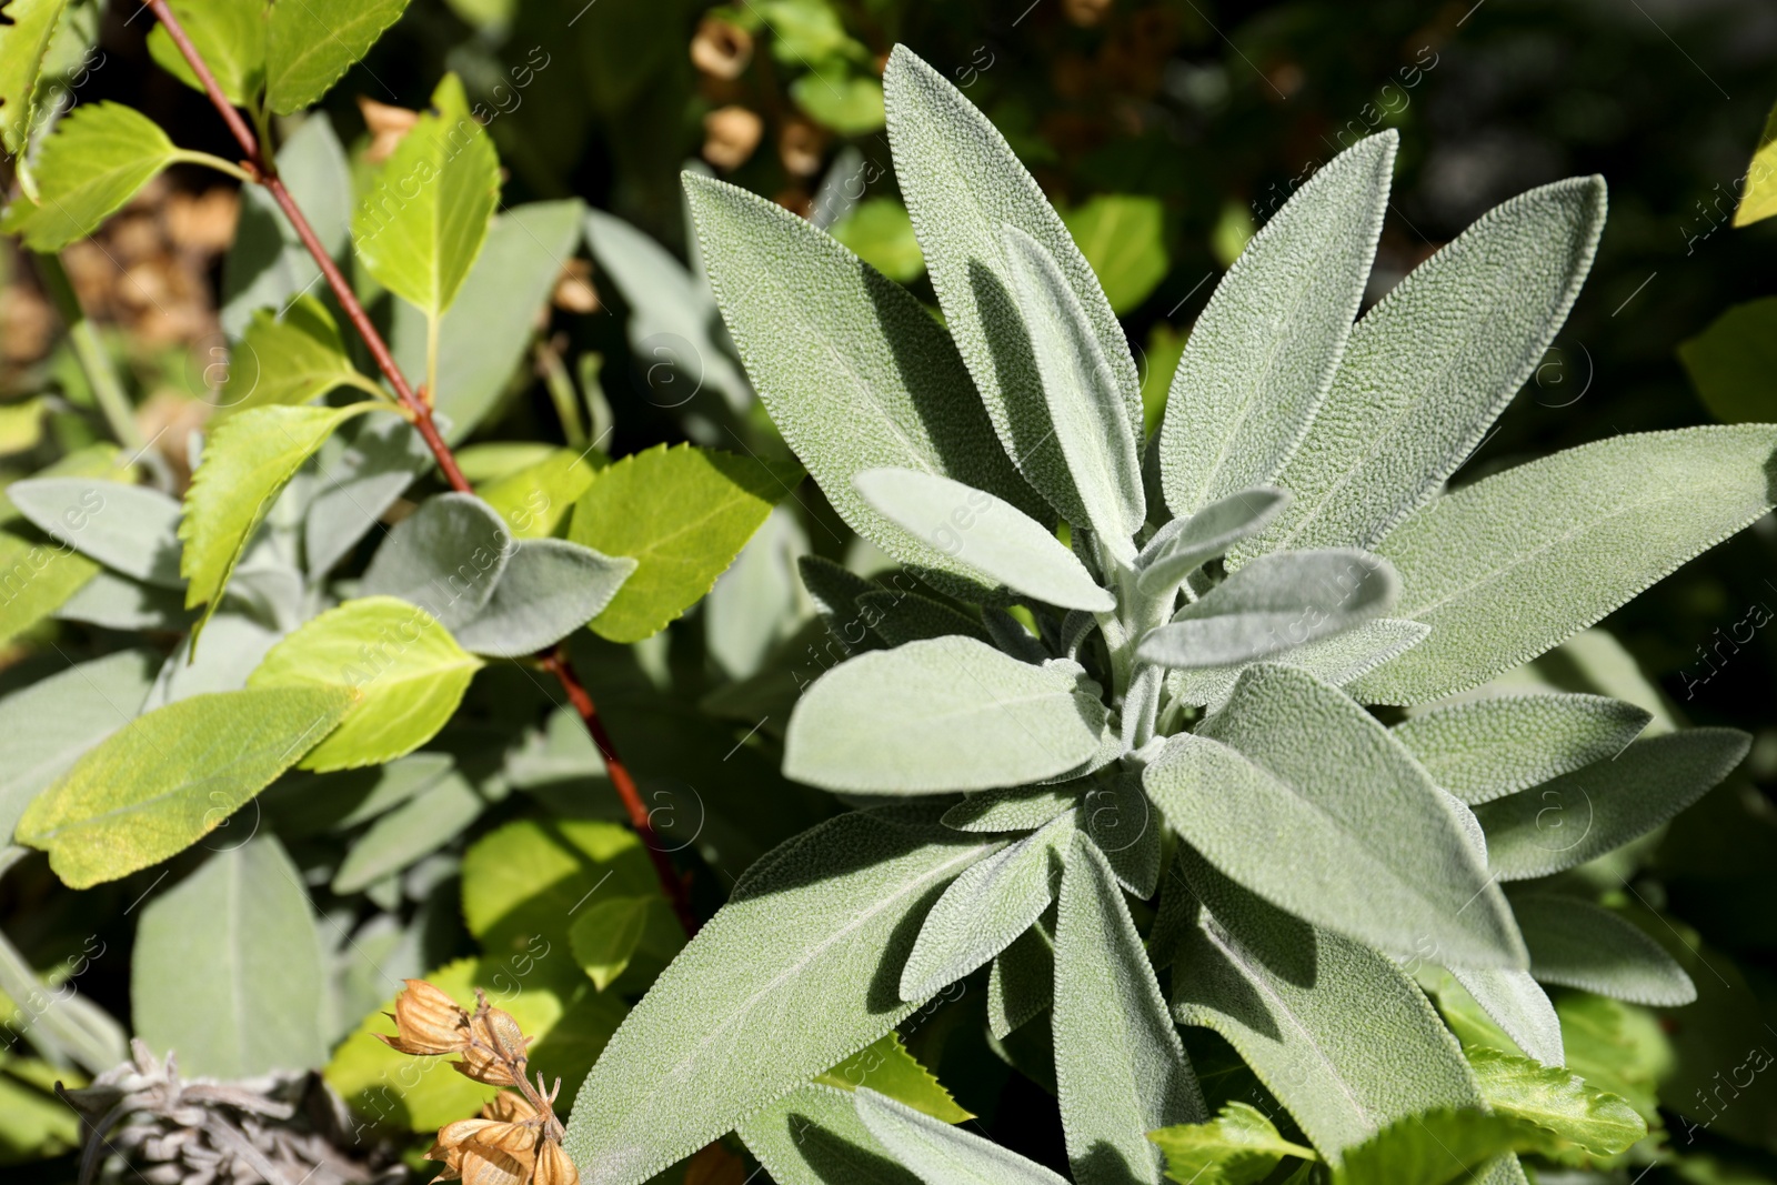
{"type": "Polygon", "coordinates": [[[1352,695],[1422,704],[1534,659],[1770,512],[1773,449],[1765,425],[1646,432],[1432,501],[1377,545],[1432,636],[1352,695]]]}

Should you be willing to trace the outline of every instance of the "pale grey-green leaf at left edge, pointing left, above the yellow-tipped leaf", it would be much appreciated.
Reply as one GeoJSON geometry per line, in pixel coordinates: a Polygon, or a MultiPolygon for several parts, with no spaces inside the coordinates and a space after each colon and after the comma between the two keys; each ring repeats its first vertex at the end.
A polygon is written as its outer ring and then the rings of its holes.
{"type": "Polygon", "coordinates": [[[179,503],[101,478],[30,478],[5,487],[25,519],[108,569],[162,588],[179,579],[179,503]]]}

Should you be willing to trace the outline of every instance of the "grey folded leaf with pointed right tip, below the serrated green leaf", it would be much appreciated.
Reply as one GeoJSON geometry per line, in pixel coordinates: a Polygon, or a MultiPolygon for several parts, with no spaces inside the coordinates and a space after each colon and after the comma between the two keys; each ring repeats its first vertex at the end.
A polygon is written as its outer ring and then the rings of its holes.
{"type": "Polygon", "coordinates": [[[634,570],[629,556],[601,556],[565,538],[515,540],[494,595],[457,641],[506,659],[533,654],[595,618],[634,570]]]}

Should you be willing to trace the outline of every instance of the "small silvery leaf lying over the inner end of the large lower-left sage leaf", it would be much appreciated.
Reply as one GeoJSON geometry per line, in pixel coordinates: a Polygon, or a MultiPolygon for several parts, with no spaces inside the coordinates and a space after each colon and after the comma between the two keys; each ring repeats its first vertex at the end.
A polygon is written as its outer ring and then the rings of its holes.
{"type": "Polygon", "coordinates": [[[924,1000],[976,970],[1043,915],[1073,835],[1063,815],[951,881],[901,968],[901,998],[924,1000]]]}

